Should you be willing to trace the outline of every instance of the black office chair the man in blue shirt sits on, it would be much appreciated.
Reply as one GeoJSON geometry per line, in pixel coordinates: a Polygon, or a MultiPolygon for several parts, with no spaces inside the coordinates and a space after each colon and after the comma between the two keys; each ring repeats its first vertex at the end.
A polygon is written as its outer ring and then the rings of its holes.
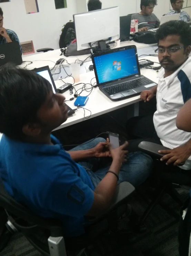
{"type": "MultiPolygon", "coordinates": [[[[79,248],[79,245],[75,245],[77,239],[73,243],[70,241],[67,245],[67,239],[63,238],[63,229],[59,220],[44,219],[33,214],[8,194],[2,182],[0,182],[0,206],[6,210],[8,215],[7,228],[11,232],[22,232],[41,254],[46,256],[66,256],[67,250],[78,249],[78,256],[80,256],[85,250],[84,247],[100,235],[100,230],[101,232],[118,230],[117,215],[119,208],[127,205],[127,199],[129,199],[134,190],[134,187],[128,182],[123,182],[117,186],[110,208],[99,217],[89,221],[90,224],[87,227],[88,242],[81,240],[80,243],[82,242],[82,244],[80,246],[82,248],[79,248]]],[[[123,210],[125,210],[125,207],[123,207],[123,210]]],[[[121,212],[121,214],[123,213],[124,211],[121,212]]]]}

